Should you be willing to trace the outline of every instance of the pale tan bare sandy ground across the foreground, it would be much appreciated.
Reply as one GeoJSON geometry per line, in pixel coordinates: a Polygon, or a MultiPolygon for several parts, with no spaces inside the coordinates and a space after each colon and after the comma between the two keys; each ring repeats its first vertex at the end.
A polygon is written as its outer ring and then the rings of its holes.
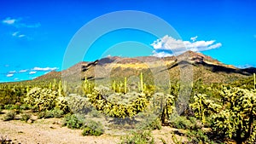
{"type": "MultiPolygon", "coordinates": [[[[3,114],[1,114],[3,117],[3,114]]],[[[0,117],[1,117],[0,115],[0,117]]],[[[154,130],[156,144],[172,142],[172,132],[175,129],[162,127],[154,130]]],[[[115,144],[119,143],[121,135],[104,134],[101,136],[83,136],[82,130],[71,130],[61,126],[60,118],[37,119],[32,124],[20,120],[0,120],[0,136],[7,136],[14,143],[22,144],[115,144]]],[[[177,135],[177,139],[180,139],[177,135]]]]}

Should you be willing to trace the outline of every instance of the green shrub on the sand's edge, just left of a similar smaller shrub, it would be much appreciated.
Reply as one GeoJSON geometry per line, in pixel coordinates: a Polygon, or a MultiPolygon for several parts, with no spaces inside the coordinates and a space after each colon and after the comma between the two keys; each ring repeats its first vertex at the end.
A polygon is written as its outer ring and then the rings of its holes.
{"type": "Polygon", "coordinates": [[[63,125],[67,126],[67,128],[70,129],[81,129],[84,125],[84,122],[83,120],[81,120],[81,118],[78,118],[76,115],[68,113],[64,117],[63,125]]]}

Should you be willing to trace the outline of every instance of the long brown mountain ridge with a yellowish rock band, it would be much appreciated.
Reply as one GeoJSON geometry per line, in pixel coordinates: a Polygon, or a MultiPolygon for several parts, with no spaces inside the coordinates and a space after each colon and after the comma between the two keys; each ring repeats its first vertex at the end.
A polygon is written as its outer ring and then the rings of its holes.
{"type": "Polygon", "coordinates": [[[187,51],[182,55],[164,58],[113,56],[92,62],[83,61],[62,72],[49,72],[36,80],[62,77],[75,82],[87,78],[103,83],[111,79],[138,78],[140,72],[143,72],[144,79],[148,83],[154,83],[155,80],[165,81],[166,78],[178,81],[181,75],[182,77],[190,75],[193,76],[194,81],[201,79],[206,84],[212,84],[247,78],[256,72],[256,68],[239,69],[215,60],[211,56],[187,51]]]}

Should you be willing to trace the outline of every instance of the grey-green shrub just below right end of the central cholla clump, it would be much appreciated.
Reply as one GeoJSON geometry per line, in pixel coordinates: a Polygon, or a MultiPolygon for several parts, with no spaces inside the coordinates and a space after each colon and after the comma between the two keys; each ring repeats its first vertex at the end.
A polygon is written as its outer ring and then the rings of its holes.
{"type": "Polygon", "coordinates": [[[161,130],[161,128],[160,118],[154,115],[149,116],[137,125],[137,129],[139,130],[161,130]]]}

